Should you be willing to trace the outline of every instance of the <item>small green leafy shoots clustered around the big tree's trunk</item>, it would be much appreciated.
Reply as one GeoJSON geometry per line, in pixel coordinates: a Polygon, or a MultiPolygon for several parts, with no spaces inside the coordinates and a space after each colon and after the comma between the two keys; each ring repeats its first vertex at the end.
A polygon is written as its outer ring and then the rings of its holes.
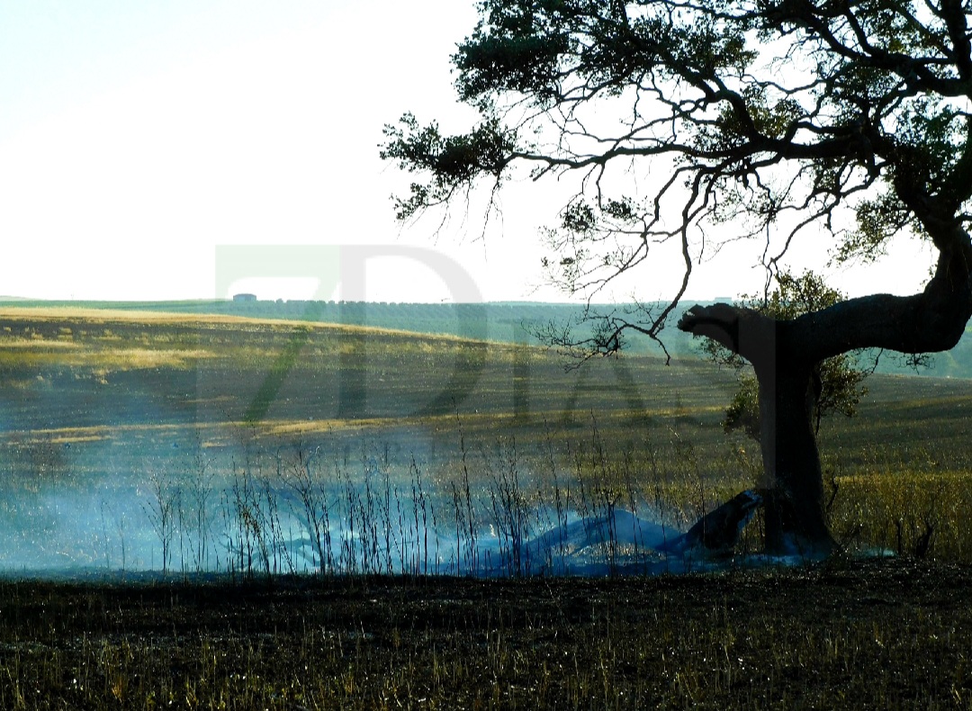
{"type": "MultiPolygon", "coordinates": [[[[737,305],[749,308],[764,316],[792,320],[805,313],[818,311],[844,301],[844,296],[831,289],[811,271],[793,276],[787,271],[775,275],[777,288],[766,298],[745,296],[737,305]]],[[[754,375],[743,372],[746,362],[736,353],[717,341],[706,339],[703,353],[720,366],[735,368],[739,374],[739,389],[733,395],[722,427],[726,433],[743,430],[753,440],[759,441],[759,385],[754,375]]],[[[816,364],[813,373],[813,422],[814,434],[820,431],[820,418],[834,412],[852,417],[857,404],[867,394],[861,382],[868,371],[857,368],[851,353],[831,356],[816,364]]]]}

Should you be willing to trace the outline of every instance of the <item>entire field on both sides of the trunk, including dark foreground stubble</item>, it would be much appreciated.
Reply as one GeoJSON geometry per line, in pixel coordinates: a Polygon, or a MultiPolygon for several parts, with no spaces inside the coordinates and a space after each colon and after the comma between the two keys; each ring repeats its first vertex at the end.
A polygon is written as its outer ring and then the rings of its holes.
{"type": "MultiPolygon", "coordinates": [[[[719,426],[731,373],[564,363],[388,330],[4,307],[0,706],[972,703],[972,382],[875,375],[857,417],[824,422],[848,556],[516,579],[534,570],[510,557],[517,536],[568,510],[683,528],[759,483],[758,447],[719,426]],[[484,557],[491,529],[503,560],[484,557]],[[514,579],[425,575],[497,563],[514,579]]],[[[616,543],[608,572],[650,562],[616,543]]]]}

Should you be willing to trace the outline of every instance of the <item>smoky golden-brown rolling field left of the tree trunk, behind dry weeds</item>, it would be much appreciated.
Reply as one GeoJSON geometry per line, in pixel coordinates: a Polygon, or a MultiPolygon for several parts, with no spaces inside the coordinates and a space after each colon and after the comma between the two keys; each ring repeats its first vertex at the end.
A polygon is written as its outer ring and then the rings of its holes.
{"type": "MultiPolygon", "coordinates": [[[[713,426],[712,398],[713,387],[726,392],[731,383],[695,362],[663,368],[633,358],[565,371],[556,354],[538,348],[460,338],[8,309],[0,314],[0,368],[4,500],[17,502],[6,514],[20,539],[4,554],[12,568],[31,566],[40,551],[49,553],[42,567],[113,569],[123,556],[125,568],[166,568],[161,539],[187,526],[164,521],[162,531],[163,521],[152,519],[175,515],[163,511],[175,509],[172,498],[183,517],[191,509],[198,519],[207,508],[193,533],[212,539],[215,518],[271,515],[265,507],[241,512],[236,500],[279,488],[269,473],[312,453],[315,477],[345,482],[334,497],[352,494],[363,469],[380,470],[386,494],[421,484],[419,493],[444,515],[460,475],[464,489],[482,493],[498,469],[508,474],[514,465],[518,479],[507,483],[530,488],[535,499],[541,488],[557,493],[533,481],[540,468],[555,479],[567,476],[563,467],[582,480],[592,468],[616,479],[613,462],[627,462],[625,476],[637,483],[632,457],[649,431],[661,433],[660,448],[675,438],[682,468],[696,479],[716,473],[687,461],[692,447],[732,451],[713,426]],[[210,501],[202,504],[204,496],[210,501]],[[65,499],[76,505],[70,516],[65,499]],[[65,518],[95,534],[80,540],[61,531],[54,519],[65,518]]],[[[181,569],[226,568],[217,543],[226,541],[206,540],[211,555],[189,560],[184,540],[171,560],[181,569]]]]}

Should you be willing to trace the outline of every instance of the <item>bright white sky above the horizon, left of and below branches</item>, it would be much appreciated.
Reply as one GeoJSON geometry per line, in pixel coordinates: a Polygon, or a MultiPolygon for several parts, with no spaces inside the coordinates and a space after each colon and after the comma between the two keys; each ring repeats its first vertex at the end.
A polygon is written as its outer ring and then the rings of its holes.
{"type": "MultiPolygon", "coordinates": [[[[474,210],[394,220],[406,178],[377,157],[382,125],[410,110],[469,126],[449,55],[474,5],[0,0],[0,295],[562,299],[538,289],[538,228],[559,205],[529,184],[507,187],[485,239],[474,210]]],[[[793,254],[825,261],[812,244],[793,254]]],[[[727,248],[689,298],[756,291],[756,256],[727,248]]],[[[930,260],[830,276],[851,294],[911,293],[930,260]]],[[[672,296],[679,267],[660,255],[623,289],[672,296]]]]}

